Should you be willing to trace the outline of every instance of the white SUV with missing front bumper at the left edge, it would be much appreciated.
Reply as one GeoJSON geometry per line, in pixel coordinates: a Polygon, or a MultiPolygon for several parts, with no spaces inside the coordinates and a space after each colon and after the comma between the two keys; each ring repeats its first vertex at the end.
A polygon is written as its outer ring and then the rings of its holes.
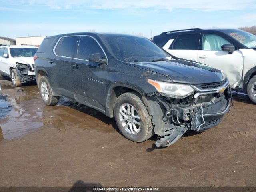
{"type": "Polygon", "coordinates": [[[0,76],[12,79],[14,86],[35,81],[33,56],[38,50],[35,46],[0,46],[0,76]]]}

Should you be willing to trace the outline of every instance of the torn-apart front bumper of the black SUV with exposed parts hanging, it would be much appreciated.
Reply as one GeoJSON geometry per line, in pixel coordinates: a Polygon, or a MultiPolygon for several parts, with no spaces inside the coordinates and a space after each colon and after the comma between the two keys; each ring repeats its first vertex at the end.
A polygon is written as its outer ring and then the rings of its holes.
{"type": "Polygon", "coordinates": [[[184,99],[148,97],[154,132],[160,136],[155,145],[170,146],[187,130],[202,132],[218,125],[230,107],[232,96],[228,85],[226,80],[217,88],[196,90],[194,95],[184,99]]]}

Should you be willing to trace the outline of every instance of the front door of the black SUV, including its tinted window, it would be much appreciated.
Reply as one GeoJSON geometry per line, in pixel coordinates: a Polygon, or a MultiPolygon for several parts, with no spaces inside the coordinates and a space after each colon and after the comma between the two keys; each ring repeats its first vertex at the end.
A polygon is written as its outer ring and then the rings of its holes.
{"type": "Polygon", "coordinates": [[[96,39],[91,36],[81,36],[76,65],[78,70],[73,70],[73,91],[76,99],[88,105],[105,109],[106,106],[106,64],[89,62],[90,54],[100,54],[101,59],[106,55],[96,39]]]}

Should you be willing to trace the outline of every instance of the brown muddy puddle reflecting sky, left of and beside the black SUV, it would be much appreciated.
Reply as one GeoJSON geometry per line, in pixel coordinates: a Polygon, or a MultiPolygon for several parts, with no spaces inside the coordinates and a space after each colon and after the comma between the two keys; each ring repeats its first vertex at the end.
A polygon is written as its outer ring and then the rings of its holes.
{"type": "Polygon", "coordinates": [[[68,127],[88,131],[115,131],[115,122],[104,114],[82,104],[61,98],[56,106],[45,106],[35,84],[15,88],[0,80],[0,140],[18,138],[46,126],[60,131],[68,127]],[[114,128],[113,128],[114,126],[114,128]]]}

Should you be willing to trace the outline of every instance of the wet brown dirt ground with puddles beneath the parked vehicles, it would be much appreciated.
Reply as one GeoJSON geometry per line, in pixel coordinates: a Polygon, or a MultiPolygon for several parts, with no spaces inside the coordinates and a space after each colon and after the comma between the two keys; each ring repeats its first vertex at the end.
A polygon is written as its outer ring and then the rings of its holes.
{"type": "Polygon", "coordinates": [[[22,90],[0,79],[0,186],[256,186],[256,105],[245,94],[234,92],[218,126],[158,149],[94,109],[45,106],[36,84],[22,90]]]}

